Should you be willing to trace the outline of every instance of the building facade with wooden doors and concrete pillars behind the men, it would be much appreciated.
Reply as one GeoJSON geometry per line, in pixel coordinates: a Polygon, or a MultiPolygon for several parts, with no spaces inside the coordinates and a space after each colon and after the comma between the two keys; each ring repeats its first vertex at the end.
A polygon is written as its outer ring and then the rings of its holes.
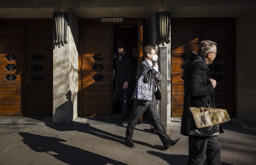
{"type": "Polygon", "coordinates": [[[165,77],[161,118],[170,123],[182,114],[188,54],[209,39],[218,43],[209,68],[218,81],[219,108],[256,119],[254,0],[0,2],[0,116],[53,116],[60,124],[112,116],[117,46],[125,45],[133,60],[134,87],[142,49],[153,45],[165,77]],[[62,18],[67,26],[58,31],[53,13],[68,14],[62,18]]]}

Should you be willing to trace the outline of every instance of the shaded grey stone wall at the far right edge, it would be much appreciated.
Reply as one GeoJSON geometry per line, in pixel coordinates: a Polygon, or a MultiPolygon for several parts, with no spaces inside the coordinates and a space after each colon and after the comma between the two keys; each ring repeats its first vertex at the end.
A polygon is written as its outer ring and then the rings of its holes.
{"type": "Polygon", "coordinates": [[[256,121],[256,12],[237,18],[237,116],[256,121]]]}

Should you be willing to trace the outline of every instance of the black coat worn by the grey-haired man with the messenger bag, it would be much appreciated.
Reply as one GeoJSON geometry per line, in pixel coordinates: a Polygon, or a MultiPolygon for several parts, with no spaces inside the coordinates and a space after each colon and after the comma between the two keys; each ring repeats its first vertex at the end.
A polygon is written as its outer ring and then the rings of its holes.
{"type": "Polygon", "coordinates": [[[182,114],[180,133],[187,135],[187,107],[210,107],[217,108],[214,88],[209,83],[208,77],[212,78],[212,74],[207,64],[196,53],[191,53],[191,59],[187,63],[184,73],[184,107],[182,114]],[[196,60],[196,61],[195,61],[196,60]],[[193,65],[192,65],[193,63],[193,65]]]}

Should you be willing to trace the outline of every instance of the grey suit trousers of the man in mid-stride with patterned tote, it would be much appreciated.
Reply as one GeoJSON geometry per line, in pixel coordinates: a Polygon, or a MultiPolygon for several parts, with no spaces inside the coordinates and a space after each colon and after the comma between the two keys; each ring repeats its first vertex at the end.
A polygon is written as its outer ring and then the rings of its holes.
{"type": "Polygon", "coordinates": [[[169,135],[166,134],[164,126],[161,123],[160,116],[157,111],[157,100],[155,97],[150,102],[150,104],[148,104],[148,102],[145,104],[143,102],[134,100],[133,112],[126,128],[126,138],[132,139],[135,126],[138,123],[140,116],[142,116],[145,111],[162,143],[170,139],[169,135]]]}

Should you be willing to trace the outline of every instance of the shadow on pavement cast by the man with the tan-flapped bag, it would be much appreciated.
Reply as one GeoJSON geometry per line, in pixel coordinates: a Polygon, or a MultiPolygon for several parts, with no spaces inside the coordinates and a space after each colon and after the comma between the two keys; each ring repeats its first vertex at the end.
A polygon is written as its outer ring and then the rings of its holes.
{"type": "MultiPolygon", "coordinates": [[[[163,160],[168,162],[169,165],[187,165],[187,161],[188,161],[188,155],[184,155],[184,154],[164,154],[156,151],[147,151],[147,153],[154,156],[158,156],[159,158],[162,158],[163,160]]],[[[207,165],[206,159],[203,165],[207,165]]],[[[221,165],[233,165],[233,164],[221,161],[221,165]]]]}

